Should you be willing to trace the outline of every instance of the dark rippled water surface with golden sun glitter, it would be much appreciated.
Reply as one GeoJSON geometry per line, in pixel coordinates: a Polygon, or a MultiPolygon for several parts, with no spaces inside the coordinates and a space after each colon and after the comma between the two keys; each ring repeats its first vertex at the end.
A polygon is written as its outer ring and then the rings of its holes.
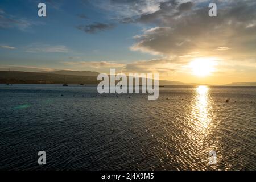
{"type": "Polygon", "coordinates": [[[0,169],[256,169],[255,87],[159,89],[152,101],[95,86],[0,85],[0,169]]]}

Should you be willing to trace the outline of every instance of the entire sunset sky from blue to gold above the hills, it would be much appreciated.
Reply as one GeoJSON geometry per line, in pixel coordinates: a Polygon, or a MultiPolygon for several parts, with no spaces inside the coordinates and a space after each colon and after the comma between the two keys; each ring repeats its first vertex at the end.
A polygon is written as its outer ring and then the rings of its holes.
{"type": "Polygon", "coordinates": [[[255,49],[255,0],[0,2],[0,70],[115,68],[187,83],[255,82],[255,49]]]}

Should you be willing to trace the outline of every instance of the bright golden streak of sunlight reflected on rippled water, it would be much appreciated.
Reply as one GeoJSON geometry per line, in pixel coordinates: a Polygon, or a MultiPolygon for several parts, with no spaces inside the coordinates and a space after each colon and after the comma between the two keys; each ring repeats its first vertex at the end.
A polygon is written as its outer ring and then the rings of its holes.
{"type": "MultiPolygon", "coordinates": [[[[208,86],[197,86],[195,88],[191,113],[187,115],[190,118],[187,134],[190,139],[188,143],[192,143],[192,155],[201,160],[205,168],[208,166],[208,156],[206,154],[210,150],[216,151],[218,148],[217,140],[213,140],[211,144],[205,143],[216,128],[216,123],[212,122],[214,119],[213,103],[209,92],[210,88],[208,86]]],[[[214,168],[214,166],[212,167],[214,168]]],[[[197,169],[197,167],[192,167],[192,169],[197,169]]]]}

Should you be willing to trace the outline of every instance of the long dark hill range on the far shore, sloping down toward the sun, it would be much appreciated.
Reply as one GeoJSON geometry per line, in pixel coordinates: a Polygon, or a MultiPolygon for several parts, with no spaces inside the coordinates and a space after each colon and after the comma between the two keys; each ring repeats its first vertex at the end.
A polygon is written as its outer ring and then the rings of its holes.
{"type": "MultiPolygon", "coordinates": [[[[0,71],[0,84],[98,84],[100,73],[89,71],[20,72],[0,71]]],[[[205,85],[185,84],[180,81],[159,80],[159,85],[205,85]]]]}

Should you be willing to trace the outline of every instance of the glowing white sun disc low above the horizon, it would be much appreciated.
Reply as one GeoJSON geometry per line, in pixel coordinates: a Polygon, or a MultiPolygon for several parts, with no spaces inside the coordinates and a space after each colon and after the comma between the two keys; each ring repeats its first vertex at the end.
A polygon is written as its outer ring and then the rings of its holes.
{"type": "Polygon", "coordinates": [[[210,75],[216,71],[215,66],[217,62],[214,58],[200,57],[191,61],[189,67],[191,68],[193,75],[204,77],[210,75]]]}

